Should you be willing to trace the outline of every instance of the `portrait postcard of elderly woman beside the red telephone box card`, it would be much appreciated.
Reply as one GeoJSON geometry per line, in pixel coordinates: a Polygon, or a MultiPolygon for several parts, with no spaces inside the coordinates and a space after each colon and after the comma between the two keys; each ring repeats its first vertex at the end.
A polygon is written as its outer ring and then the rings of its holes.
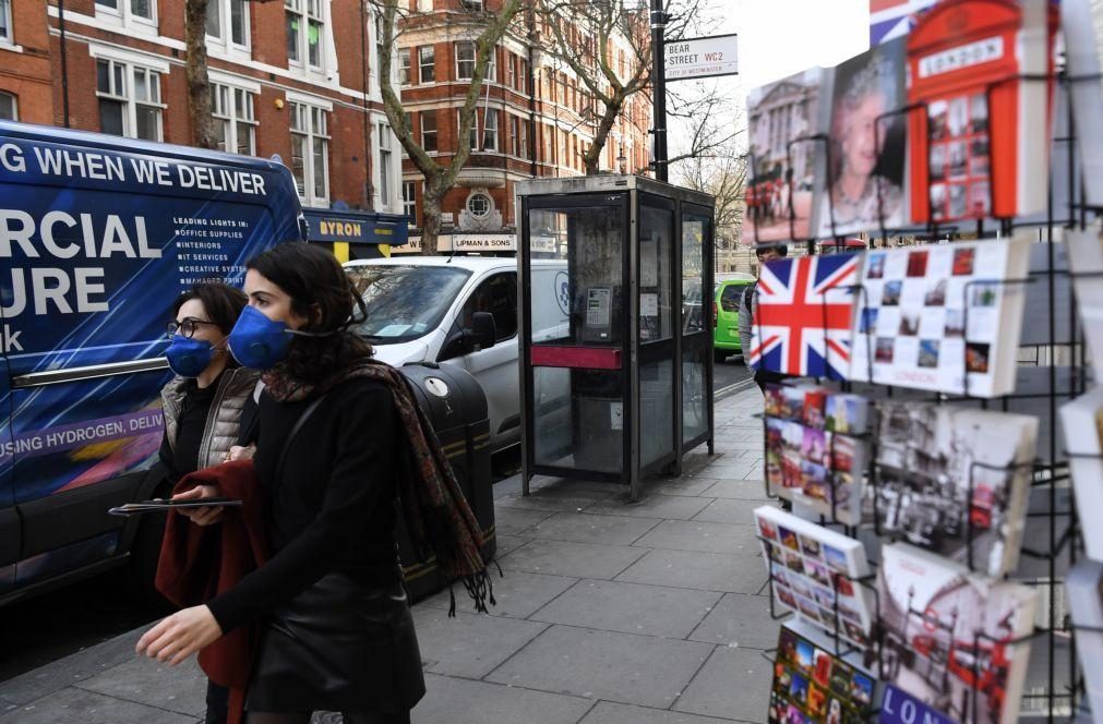
{"type": "MultiPolygon", "coordinates": [[[[827,148],[816,182],[816,236],[827,238],[908,219],[904,47],[900,37],[829,71],[827,148]]],[[[825,101],[826,102],[826,101],[825,101]]]]}

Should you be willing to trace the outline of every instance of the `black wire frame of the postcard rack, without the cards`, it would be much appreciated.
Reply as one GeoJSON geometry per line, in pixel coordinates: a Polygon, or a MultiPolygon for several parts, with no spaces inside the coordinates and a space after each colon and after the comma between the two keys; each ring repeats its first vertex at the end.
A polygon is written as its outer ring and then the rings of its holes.
{"type": "MultiPolygon", "coordinates": [[[[1070,299],[1070,320],[1069,320],[1069,338],[1059,339],[1058,334],[1058,309],[1057,309],[1057,284],[1061,277],[1069,278],[1070,282],[1073,279],[1081,278],[1099,278],[1103,274],[1100,273],[1088,273],[1088,272],[1074,272],[1069,269],[1060,269],[1057,264],[1057,252],[1054,248],[1056,237],[1059,236],[1059,229],[1084,229],[1091,223],[1093,223],[1101,214],[1103,214],[1103,208],[1097,208],[1090,206],[1085,203],[1085,193],[1083,180],[1079,176],[1082,164],[1078,162],[1077,159],[1077,129],[1073,122],[1073,114],[1071,109],[1072,87],[1080,83],[1100,83],[1100,76],[1083,76],[1083,77],[1070,77],[1064,73],[1054,73],[1045,76],[1014,76],[1007,77],[1002,80],[997,80],[990,84],[986,89],[986,99],[988,101],[988,108],[992,108],[992,91],[994,88],[998,87],[1005,83],[1047,83],[1051,84],[1054,90],[1063,90],[1061,94],[1054,93],[1054,102],[1068,104],[1065,111],[1063,114],[1063,126],[1064,128],[1053,129],[1053,145],[1063,145],[1061,151],[1062,154],[1068,155],[1068,169],[1067,179],[1062,179],[1062,183],[1067,184],[1068,188],[1068,199],[1054,198],[1054,174],[1050,173],[1048,175],[1048,204],[1045,217],[1038,218],[987,218],[977,219],[975,224],[972,220],[968,221],[956,221],[956,223],[939,223],[932,218],[925,225],[919,226],[904,226],[904,227],[887,227],[884,218],[884,203],[880,198],[881,192],[878,187],[878,209],[881,213],[880,227],[877,233],[871,236],[870,247],[874,246],[874,241],[879,239],[884,244],[888,244],[890,239],[898,237],[913,237],[917,242],[934,242],[940,239],[960,240],[963,236],[970,236],[971,238],[975,236],[976,239],[995,238],[995,237],[1009,237],[1015,229],[1018,228],[1035,228],[1037,229],[1037,240],[1047,246],[1046,253],[1046,264],[1043,269],[1031,270],[1027,277],[1021,279],[1009,279],[1009,280],[990,280],[983,281],[979,283],[994,284],[994,285],[1045,285],[1046,299],[1048,301],[1048,329],[1043,329],[1045,342],[1039,345],[1040,347],[1048,350],[1043,361],[1045,365],[1039,365],[1039,367],[1046,369],[1043,377],[1046,378],[1043,382],[1043,388],[1041,391],[1024,391],[1021,393],[1010,393],[996,398],[978,398],[972,396],[968,389],[968,377],[966,372],[964,375],[964,389],[960,395],[945,395],[939,392],[925,393],[914,398],[917,401],[923,401],[935,404],[945,403],[959,403],[959,404],[975,404],[981,409],[992,409],[1008,411],[1011,404],[1016,401],[1032,399],[1037,404],[1045,407],[1045,413],[1040,415],[1039,419],[1039,431],[1046,430],[1048,434],[1039,434],[1038,444],[1042,447],[1041,454],[1027,464],[1030,469],[1031,480],[1030,480],[1030,499],[1035,503],[1041,503],[1038,507],[1042,508],[1040,510],[1034,510],[1032,507],[1028,507],[1027,512],[1027,530],[1037,530],[1040,526],[1045,530],[1042,534],[1035,534],[1032,539],[1024,539],[1022,548],[1020,554],[1024,558],[1035,559],[1040,563],[1045,573],[1041,579],[1034,580],[1022,580],[1019,581],[1026,585],[1032,586],[1043,586],[1047,588],[1045,591],[1043,605],[1040,610],[1043,613],[1042,625],[1036,625],[1035,630],[1026,636],[1011,637],[1008,636],[1003,639],[997,639],[990,635],[984,633],[978,633],[972,638],[972,640],[955,640],[953,637],[954,622],[946,620],[934,620],[928,612],[910,610],[912,616],[919,617],[923,620],[930,628],[942,631],[949,638],[949,649],[941,651],[940,656],[931,657],[931,672],[930,676],[941,676],[947,677],[953,670],[953,673],[957,677],[959,681],[967,682],[968,688],[972,690],[971,706],[973,712],[973,721],[976,721],[977,715],[977,702],[982,696],[990,696],[993,694],[992,684],[993,682],[988,680],[985,676],[985,670],[982,667],[982,662],[985,660],[992,660],[994,657],[1003,656],[1004,652],[1008,650],[1009,647],[1014,647],[1018,644],[1030,642],[1031,648],[1037,651],[1039,647],[1046,652],[1046,669],[1045,669],[1045,681],[1039,682],[1037,678],[1030,683],[1045,684],[1045,690],[1039,691],[1040,687],[1036,685],[1035,691],[1026,691],[1024,693],[1022,702],[1020,706],[1025,714],[1030,714],[1032,717],[1041,717],[1048,722],[1053,722],[1058,720],[1067,720],[1075,717],[1078,715],[1084,715],[1085,704],[1084,704],[1084,682],[1082,674],[1078,672],[1078,660],[1077,660],[1077,638],[1078,636],[1103,636],[1103,629],[1090,628],[1090,627],[1078,627],[1072,625],[1071,620],[1067,616],[1060,614],[1062,606],[1060,603],[1060,591],[1059,587],[1063,587],[1063,570],[1064,566],[1071,568],[1078,560],[1078,556],[1083,555],[1083,541],[1080,534],[1079,520],[1077,516],[1075,505],[1071,495],[1070,485],[1070,474],[1068,461],[1074,457],[1081,457],[1081,455],[1070,454],[1064,451],[1058,440],[1060,437],[1060,425],[1058,423],[1058,408],[1063,401],[1068,401],[1073,397],[1080,396],[1085,391],[1089,381],[1089,366],[1086,365],[1086,346],[1082,338],[1079,338],[1079,324],[1075,300],[1070,299]],[[1062,100],[1058,101],[1057,98],[1062,100]],[[1057,350],[1058,347],[1067,348],[1068,365],[1058,365],[1057,350]],[[1064,371],[1068,374],[1067,383],[1059,383],[1059,371],[1064,371]],[[1045,443],[1042,441],[1046,441],[1045,443]],[[1065,488],[1068,488],[1068,495],[1061,495],[1065,488]],[[1037,496],[1037,497],[1036,497],[1037,496]],[[1040,500],[1038,499],[1040,498],[1040,500]],[[1068,658],[1068,661],[1063,666],[1059,666],[1059,659],[1061,657],[1068,658]],[[1064,671],[1059,671],[1063,669],[1064,671]]],[[[910,116],[911,114],[925,112],[930,117],[930,108],[925,104],[915,104],[901,108],[898,110],[890,111],[882,115],[875,123],[875,133],[878,137],[878,147],[880,145],[880,133],[882,130],[882,125],[888,121],[893,116],[910,116]]],[[[985,123],[989,123],[989,118],[985,116],[985,123]]],[[[930,134],[932,123],[927,123],[928,128],[928,141],[930,142],[930,134]]],[[[990,131],[990,128],[988,129],[990,131]]],[[[990,139],[990,132],[988,133],[990,139]]],[[[824,134],[818,136],[807,136],[797,139],[793,139],[789,142],[786,154],[789,158],[789,168],[792,168],[792,148],[800,143],[818,143],[824,147],[824,156],[828,165],[831,164],[831,153],[832,144],[829,139],[824,134]]],[[[930,144],[928,145],[930,148],[930,144]]],[[[1051,147],[1052,148],[1052,147],[1051,147]]],[[[1054,158],[1058,151],[1054,151],[1054,158]]],[[[930,156],[928,155],[928,162],[930,156]]],[[[1051,158],[1051,162],[1054,159],[1051,158]]],[[[989,179],[996,179],[999,170],[996,168],[997,158],[996,154],[989,154],[990,173],[989,179]]],[[[753,163],[753,158],[750,159],[748,163],[748,183],[753,185],[754,179],[753,173],[756,165],[753,163]]],[[[930,186],[932,185],[931,174],[928,173],[928,197],[930,198],[930,186]]],[[[788,179],[789,184],[789,220],[790,220],[790,231],[795,229],[795,213],[792,204],[793,199],[793,179],[792,174],[788,179]]],[[[993,206],[993,194],[994,194],[995,183],[988,184],[988,208],[994,208],[993,206]]],[[[827,208],[831,214],[831,228],[835,231],[834,224],[834,207],[832,201],[832,194],[827,194],[827,208]]],[[[933,215],[932,215],[933,216],[933,215]]],[[[758,246],[760,240],[758,238],[758,227],[759,224],[754,225],[753,241],[758,246]]],[[[810,233],[814,234],[814,229],[810,229],[810,233]]],[[[792,234],[791,234],[792,236],[792,234]]],[[[842,236],[835,236],[838,241],[843,240],[842,236]]],[[[808,255],[816,253],[816,239],[815,238],[789,238],[779,241],[762,241],[762,246],[769,246],[770,244],[804,244],[807,247],[808,255]]],[[[971,282],[974,283],[974,282],[971,282]]],[[[854,285],[849,289],[861,307],[867,305],[866,298],[867,292],[860,285],[854,285]]],[[[968,292],[966,291],[966,294],[968,292]]],[[[826,318],[826,301],[823,301],[825,306],[825,318],[826,318]]],[[[968,305],[965,305],[968,309],[968,305]]],[[[967,311],[966,311],[967,314],[967,311]]],[[[967,322],[966,322],[966,336],[967,336],[967,322]]],[[[872,352],[871,345],[867,345],[867,356],[869,358],[870,371],[872,366],[872,352]]],[[[828,346],[829,349],[829,346],[828,346]]],[[[963,360],[963,369],[967,369],[963,360]]],[[[872,379],[872,375],[868,376],[868,379],[872,379]]],[[[825,382],[824,379],[815,379],[817,383],[825,382]]],[[[868,386],[865,382],[855,383],[846,380],[829,380],[837,385],[838,389],[843,392],[859,391],[867,397],[870,397],[870,401],[876,402],[878,399],[892,399],[899,397],[901,390],[893,389],[891,386],[874,385],[868,386]],[[860,386],[860,389],[856,389],[856,385],[860,386]]],[[[1099,381],[1099,380],[1096,380],[1099,381]]],[[[768,419],[763,415],[763,440],[768,442],[768,419]]],[[[877,486],[879,479],[879,465],[878,465],[878,440],[874,435],[869,435],[870,451],[868,454],[866,475],[868,485],[872,488],[872,500],[874,505],[877,505],[877,486]]],[[[1095,457],[1095,456],[1092,456],[1095,457]]],[[[834,463],[834,455],[831,456],[831,462],[834,463]]],[[[974,474],[977,469],[984,468],[985,466],[981,463],[974,462],[968,469],[968,500],[972,504],[973,491],[974,491],[974,474]]],[[[1018,468],[1020,466],[1013,466],[1018,468]]],[[[1008,473],[1014,472],[1013,468],[1006,468],[1008,473]]],[[[770,475],[765,475],[767,480],[764,483],[767,488],[767,495],[771,498],[777,498],[778,496],[772,494],[770,486],[770,475]]],[[[852,538],[858,537],[858,527],[853,525],[846,525],[839,520],[837,516],[837,509],[835,501],[836,496],[836,476],[833,471],[828,471],[827,475],[828,485],[832,496],[832,509],[829,515],[823,515],[820,517],[818,522],[821,525],[833,527],[839,529],[844,534],[852,538]]],[[[1103,482],[1101,482],[1103,484],[1103,482]]],[[[879,526],[879,516],[874,516],[872,532],[878,536],[882,541],[888,542],[890,540],[888,537],[881,536],[882,531],[879,526]]],[[[966,539],[972,543],[975,529],[974,521],[971,515],[965,516],[965,521],[967,526],[966,539]]],[[[868,526],[868,523],[866,523],[868,526]]],[[[774,569],[775,566],[784,568],[783,562],[774,561],[770,555],[765,555],[770,577],[768,581],[769,595],[770,595],[770,614],[775,619],[783,618],[788,616],[788,612],[779,612],[775,607],[775,592],[774,592],[774,569]]],[[[874,571],[878,568],[878,561],[870,558],[870,565],[874,571]]],[[[977,571],[975,561],[972,560],[972,544],[970,544],[970,555],[968,555],[968,568],[972,571],[977,571]]],[[[848,655],[861,655],[870,670],[884,674],[885,671],[879,671],[874,666],[880,667],[885,663],[886,658],[891,660],[891,656],[882,656],[885,647],[893,646],[895,642],[887,640],[885,630],[878,626],[877,622],[881,619],[881,601],[876,586],[876,573],[867,575],[860,579],[852,580],[853,585],[863,586],[872,592],[875,602],[875,624],[872,633],[870,636],[869,647],[865,650],[856,647],[849,640],[846,640],[840,635],[839,628],[839,612],[838,612],[838,595],[836,586],[835,596],[835,617],[836,625],[834,627],[834,653],[836,656],[843,657],[848,655]]],[[[1036,622],[1037,624],[1037,622],[1036,622]]],[[[891,653],[891,651],[890,651],[891,653]]],[[[922,652],[911,651],[909,656],[923,656],[922,652]]],[[[1037,653],[1035,653],[1037,656],[1037,653]]],[[[885,677],[881,676],[884,679],[885,677]]],[[[968,711],[967,709],[965,711],[968,711]]],[[[869,721],[876,721],[876,714],[871,714],[869,721]]]]}

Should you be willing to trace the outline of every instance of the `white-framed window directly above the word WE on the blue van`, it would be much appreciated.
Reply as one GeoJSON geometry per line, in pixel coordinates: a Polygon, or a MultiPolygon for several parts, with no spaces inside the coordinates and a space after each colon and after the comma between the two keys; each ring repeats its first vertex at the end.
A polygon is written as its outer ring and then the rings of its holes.
{"type": "Polygon", "coordinates": [[[161,75],[118,61],[96,61],[99,130],[115,136],[161,140],[161,75]]]}

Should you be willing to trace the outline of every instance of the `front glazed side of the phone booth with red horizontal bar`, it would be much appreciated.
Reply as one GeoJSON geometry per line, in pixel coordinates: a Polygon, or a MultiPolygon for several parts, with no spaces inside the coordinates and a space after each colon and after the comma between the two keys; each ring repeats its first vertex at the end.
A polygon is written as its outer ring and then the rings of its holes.
{"type": "Polygon", "coordinates": [[[522,290],[534,472],[621,480],[629,469],[628,193],[527,199],[522,290]]]}

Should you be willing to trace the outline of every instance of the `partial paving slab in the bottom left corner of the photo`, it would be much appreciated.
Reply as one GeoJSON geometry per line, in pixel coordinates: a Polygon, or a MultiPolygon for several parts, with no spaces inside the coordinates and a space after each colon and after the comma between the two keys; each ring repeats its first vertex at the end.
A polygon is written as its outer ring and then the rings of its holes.
{"type": "Polygon", "coordinates": [[[68,688],[23,704],[0,724],[195,724],[194,716],[68,688]]]}

